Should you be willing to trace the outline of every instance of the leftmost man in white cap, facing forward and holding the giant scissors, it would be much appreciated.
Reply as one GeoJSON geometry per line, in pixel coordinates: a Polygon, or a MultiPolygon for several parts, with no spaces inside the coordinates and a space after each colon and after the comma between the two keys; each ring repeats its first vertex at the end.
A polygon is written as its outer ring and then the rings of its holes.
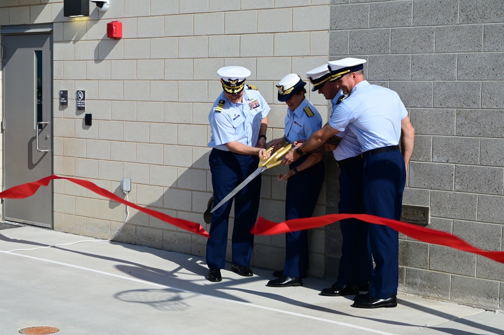
{"type": "MultiPolygon", "coordinates": [[[[212,131],[208,146],[213,148],[209,163],[215,204],[257,169],[259,153],[266,147],[270,109],[257,87],[245,85],[250,76],[248,69],[226,66],[219,69],[217,75],[223,91],[208,116],[212,131]]],[[[261,178],[254,178],[234,196],[231,270],[240,276],[253,275],[249,264],[254,235],[250,230],[257,219],[260,192],[261,178]]],[[[222,280],[220,270],[226,264],[232,199],[213,212],[206,244],[207,279],[210,282],[222,280]]]]}

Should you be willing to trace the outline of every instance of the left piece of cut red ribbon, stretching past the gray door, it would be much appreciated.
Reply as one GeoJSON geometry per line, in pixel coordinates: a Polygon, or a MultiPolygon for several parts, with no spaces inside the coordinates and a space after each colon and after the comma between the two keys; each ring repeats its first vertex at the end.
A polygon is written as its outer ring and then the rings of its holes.
{"type": "Polygon", "coordinates": [[[26,184],[21,184],[21,185],[17,185],[17,186],[13,186],[11,188],[8,188],[5,191],[0,192],[0,198],[8,198],[8,199],[27,198],[27,197],[35,194],[35,192],[38,190],[38,188],[40,186],[47,186],[52,179],[66,179],[68,181],[76,183],[77,185],[85,187],[85,188],[95,192],[96,194],[102,195],[102,196],[109,198],[111,200],[114,200],[118,203],[130,206],[134,209],[139,210],[140,212],[143,212],[145,214],[153,216],[161,221],[164,221],[166,223],[170,223],[170,224],[177,226],[179,228],[190,231],[191,233],[196,233],[196,234],[202,235],[204,237],[210,236],[207,233],[207,231],[198,223],[183,220],[183,219],[172,218],[171,216],[166,215],[164,213],[154,211],[154,210],[151,210],[148,208],[140,207],[136,204],[130,203],[129,201],[117,196],[116,194],[114,194],[112,192],[107,191],[104,188],[99,187],[98,185],[96,185],[88,180],[67,178],[67,177],[60,177],[57,175],[52,175],[52,176],[48,176],[48,177],[42,178],[37,181],[32,181],[32,182],[29,182],[26,184]]]}

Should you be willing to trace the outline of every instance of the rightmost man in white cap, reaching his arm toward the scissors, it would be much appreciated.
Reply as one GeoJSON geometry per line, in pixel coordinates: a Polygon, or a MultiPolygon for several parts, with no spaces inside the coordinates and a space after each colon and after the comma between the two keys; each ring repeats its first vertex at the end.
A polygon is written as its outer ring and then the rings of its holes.
{"type": "MultiPolygon", "coordinates": [[[[349,96],[334,109],[329,122],[301,147],[289,152],[282,164],[291,164],[329,137],[352,129],[364,161],[362,184],[366,214],[399,220],[415,129],[396,92],[364,80],[364,62],[357,58],[328,62],[330,81],[337,81],[343,94],[349,96]]],[[[376,266],[369,292],[356,295],[352,307],[396,307],[398,232],[387,226],[368,224],[368,236],[376,266]]]]}

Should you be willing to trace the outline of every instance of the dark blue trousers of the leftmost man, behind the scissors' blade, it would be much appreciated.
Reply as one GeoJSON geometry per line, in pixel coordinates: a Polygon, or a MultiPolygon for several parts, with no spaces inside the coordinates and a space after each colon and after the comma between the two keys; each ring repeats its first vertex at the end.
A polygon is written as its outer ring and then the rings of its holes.
{"type": "MultiPolygon", "coordinates": [[[[257,169],[259,157],[212,149],[209,163],[214,204],[218,204],[257,169]]],[[[261,176],[257,176],[226,204],[213,212],[210,237],[206,243],[206,263],[209,269],[225,267],[229,215],[233,199],[235,202],[235,223],[231,238],[233,264],[247,266],[250,264],[254,244],[254,235],[250,234],[250,230],[257,219],[260,193],[261,176]]]]}

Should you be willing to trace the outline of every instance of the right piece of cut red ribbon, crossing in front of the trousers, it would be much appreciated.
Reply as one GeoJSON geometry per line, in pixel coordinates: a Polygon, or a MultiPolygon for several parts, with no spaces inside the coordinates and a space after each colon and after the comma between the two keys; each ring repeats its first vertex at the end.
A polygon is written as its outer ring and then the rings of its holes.
{"type": "Polygon", "coordinates": [[[251,233],[255,235],[273,235],[273,234],[290,233],[298,230],[318,228],[336,221],[350,218],[359,219],[377,225],[388,226],[400,233],[413,237],[418,241],[443,245],[459,249],[462,251],[472,252],[478,255],[488,257],[500,263],[504,263],[503,251],[488,251],[478,249],[472,246],[471,244],[467,243],[466,241],[462,240],[461,238],[450,233],[425,228],[397,220],[385,219],[368,214],[329,214],[315,218],[287,220],[281,223],[275,223],[272,221],[268,221],[263,217],[259,217],[255,226],[252,228],[251,233]]]}

